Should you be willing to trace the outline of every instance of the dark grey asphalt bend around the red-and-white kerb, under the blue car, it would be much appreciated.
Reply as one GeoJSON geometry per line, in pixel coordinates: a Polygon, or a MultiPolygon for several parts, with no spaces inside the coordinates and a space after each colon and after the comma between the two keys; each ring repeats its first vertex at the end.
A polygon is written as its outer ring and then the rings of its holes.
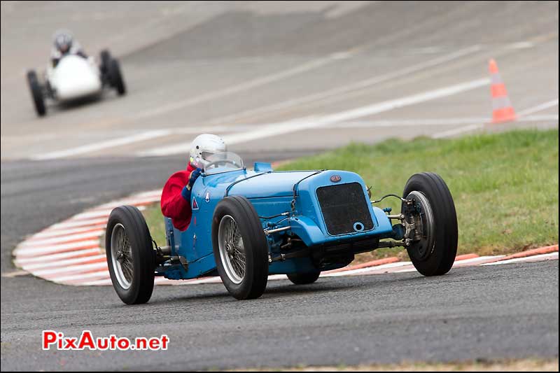
{"type": "MultiPolygon", "coordinates": [[[[278,158],[280,155],[269,155],[278,158]]],[[[250,157],[246,157],[250,158],[250,157]]],[[[266,158],[266,157],[265,157],[266,158]]],[[[26,234],[134,190],[157,188],[176,159],[95,159],[1,164],[1,268],[26,234]],[[111,188],[108,187],[111,185],[111,188]],[[111,192],[113,191],[113,192],[111,192]],[[118,192],[117,192],[118,191],[118,192]]],[[[271,281],[239,302],[220,285],[158,286],[126,307],[111,287],[1,279],[2,370],[202,370],[558,357],[558,261],[320,279],[271,281]],[[78,337],[159,337],[169,349],[42,351],[41,331],[78,337]]]]}

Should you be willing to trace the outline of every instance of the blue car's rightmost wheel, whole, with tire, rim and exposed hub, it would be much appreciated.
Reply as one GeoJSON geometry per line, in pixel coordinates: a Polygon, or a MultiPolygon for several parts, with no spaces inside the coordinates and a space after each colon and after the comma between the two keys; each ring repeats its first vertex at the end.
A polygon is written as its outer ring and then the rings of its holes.
{"type": "Polygon", "coordinates": [[[443,179],[431,172],[415,174],[407,181],[401,213],[410,233],[407,252],[424,276],[446,274],[457,254],[457,214],[451,192],[443,179]]]}

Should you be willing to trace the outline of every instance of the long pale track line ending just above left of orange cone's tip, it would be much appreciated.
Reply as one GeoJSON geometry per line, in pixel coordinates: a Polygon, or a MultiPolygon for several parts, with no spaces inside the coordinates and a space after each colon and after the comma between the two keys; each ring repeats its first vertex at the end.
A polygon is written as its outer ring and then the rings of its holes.
{"type": "Polygon", "coordinates": [[[364,89],[364,88],[367,88],[367,87],[372,87],[374,85],[384,83],[386,81],[393,80],[395,78],[400,78],[402,76],[407,76],[410,73],[414,73],[414,72],[417,72],[417,71],[422,71],[424,69],[428,69],[428,68],[433,67],[433,66],[444,64],[444,63],[450,62],[454,59],[464,57],[465,55],[470,55],[470,54],[472,54],[474,52],[477,52],[479,50],[480,50],[480,47],[478,45],[473,45],[471,47],[464,48],[464,49],[461,49],[461,50],[457,50],[456,52],[452,52],[449,55],[443,55],[442,57],[437,57],[435,59],[430,59],[426,62],[421,62],[421,63],[413,65],[413,66],[408,66],[408,67],[405,67],[404,69],[393,71],[391,73],[386,73],[386,74],[380,75],[380,76],[374,76],[374,77],[368,78],[366,80],[360,80],[359,82],[356,82],[356,83],[351,83],[351,84],[348,84],[348,85],[342,85],[340,87],[335,87],[335,88],[332,88],[330,90],[325,90],[323,92],[309,94],[309,95],[303,96],[303,97],[297,97],[295,99],[288,99],[286,101],[281,101],[279,103],[272,104],[272,105],[261,106],[259,108],[253,108],[253,109],[249,109],[249,110],[246,110],[246,111],[241,111],[239,113],[235,113],[235,114],[231,114],[231,115],[225,115],[223,117],[215,118],[213,120],[210,120],[209,124],[216,125],[216,124],[219,124],[219,123],[235,122],[235,121],[238,121],[238,120],[240,120],[242,118],[245,118],[249,115],[258,115],[258,114],[263,114],[263,113],[269,113],[271,111],[277,111],[277,110],[286,109],[286,108],[293,108],[295,106],[299,106],[299,105],[302,105],[302,104],[309,104],[310,102],[318,101],[318,100],[321,100],[321,99],[328,99],[330,97],[337,97],[337,96],[340,96],[342,94],[345,94],[346,92],[351,92],[353,90],[360,90],[360,89],[364,89]]]}

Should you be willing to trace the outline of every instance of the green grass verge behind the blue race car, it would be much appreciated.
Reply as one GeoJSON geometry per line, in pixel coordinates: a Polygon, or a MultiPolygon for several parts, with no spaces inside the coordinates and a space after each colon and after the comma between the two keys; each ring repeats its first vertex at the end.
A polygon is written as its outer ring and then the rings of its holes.
{"type": "MultiPolygon", "coordinates": [[[[279,169],[343,169],[372,185],[372,198],[400,195],[420,171],[440,174],[454,197],[459,226],[458,253],[495,255],[558,243],[558,129],[515,130],[458,139],[391,139],[375,145],[353,143],[279,169]]],[[[399,211],[397,199],[381,207],[399,211]]],[[[158,244],[165,244],[159,204],[144,212],[158,244]]],[[[400,248],[360,254],[356,262],[397,255],[400,248]]]]}

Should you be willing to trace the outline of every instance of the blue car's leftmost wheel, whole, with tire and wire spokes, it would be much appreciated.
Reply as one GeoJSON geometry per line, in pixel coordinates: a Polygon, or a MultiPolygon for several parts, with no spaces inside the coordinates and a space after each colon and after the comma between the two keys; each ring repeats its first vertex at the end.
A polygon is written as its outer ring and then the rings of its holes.
{"type": "Polygon", "coordinates": [[[150,300],[155,278],[155,253],[144,216],[134,206],[111,211],[105,237],[111,282],[126,304],[150,300]]]}

